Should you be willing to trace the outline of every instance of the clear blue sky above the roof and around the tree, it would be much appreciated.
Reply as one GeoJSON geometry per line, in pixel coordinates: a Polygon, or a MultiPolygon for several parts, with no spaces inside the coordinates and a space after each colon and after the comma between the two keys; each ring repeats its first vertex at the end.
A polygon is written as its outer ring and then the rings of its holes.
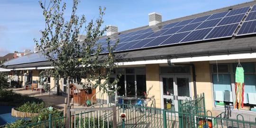
{"type": "MultiPolygon", "coordinates": [[[[67,3],[65,18],[70,17],[72,0],[67,3]]],[[[148,25],[148,13],[159,12],[163,21],[219,9],[250,0],[81,0],[77,14],[95,19],[99,6],[106,7],[105,25],[119,31],[148,25]]],[[[14,51],[33,50],[34,38],[40,39],[45,22],[38,0],[0,0],[0,56],[14,51]]]]}

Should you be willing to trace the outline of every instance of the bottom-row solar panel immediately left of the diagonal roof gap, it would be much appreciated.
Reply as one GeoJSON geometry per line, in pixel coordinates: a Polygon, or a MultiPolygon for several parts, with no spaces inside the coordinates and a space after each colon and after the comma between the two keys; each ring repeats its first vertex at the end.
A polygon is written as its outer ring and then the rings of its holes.
{"type": "Polygon", "coordinates": [[[238,25],[239,23],[214,27],[213,30],[209,33],[209,35],[204,38],[204,40],[212,38],[232,37],[238,25]]]}

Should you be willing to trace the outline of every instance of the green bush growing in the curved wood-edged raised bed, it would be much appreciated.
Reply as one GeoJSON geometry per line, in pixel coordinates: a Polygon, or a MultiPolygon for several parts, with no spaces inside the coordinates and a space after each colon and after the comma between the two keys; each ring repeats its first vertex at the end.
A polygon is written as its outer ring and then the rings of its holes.
{"type": "Polygon", "coordinates": [[[45,103],[36,103],[36,102],[26,102],[25,104],[16,108],[18,111],[30,112],[30,113],[39,113],[45,108],[45,103]]]}

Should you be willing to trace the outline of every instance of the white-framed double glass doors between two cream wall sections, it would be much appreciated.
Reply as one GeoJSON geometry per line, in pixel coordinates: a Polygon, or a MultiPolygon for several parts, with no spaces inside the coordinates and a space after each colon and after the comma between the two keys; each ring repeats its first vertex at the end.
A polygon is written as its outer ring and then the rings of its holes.
{"type": "Polygon", "coordinates": [[[190,75],[161,75],[162,109],[178,111],[178,100],[191,97],[190,75]]]}

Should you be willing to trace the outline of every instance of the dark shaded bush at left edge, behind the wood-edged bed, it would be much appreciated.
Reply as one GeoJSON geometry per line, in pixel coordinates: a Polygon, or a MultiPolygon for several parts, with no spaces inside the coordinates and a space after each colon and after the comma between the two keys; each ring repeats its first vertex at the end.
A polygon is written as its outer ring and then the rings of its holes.
{"type": "Polygon", "coordinates": [[[0,90],[0,105],[14,106],[18,107],[26,102],[36,102],[41,103],[43,100],[29,97],[26,95],[21,95],[13,92],[12,90],[0,90]]]}

